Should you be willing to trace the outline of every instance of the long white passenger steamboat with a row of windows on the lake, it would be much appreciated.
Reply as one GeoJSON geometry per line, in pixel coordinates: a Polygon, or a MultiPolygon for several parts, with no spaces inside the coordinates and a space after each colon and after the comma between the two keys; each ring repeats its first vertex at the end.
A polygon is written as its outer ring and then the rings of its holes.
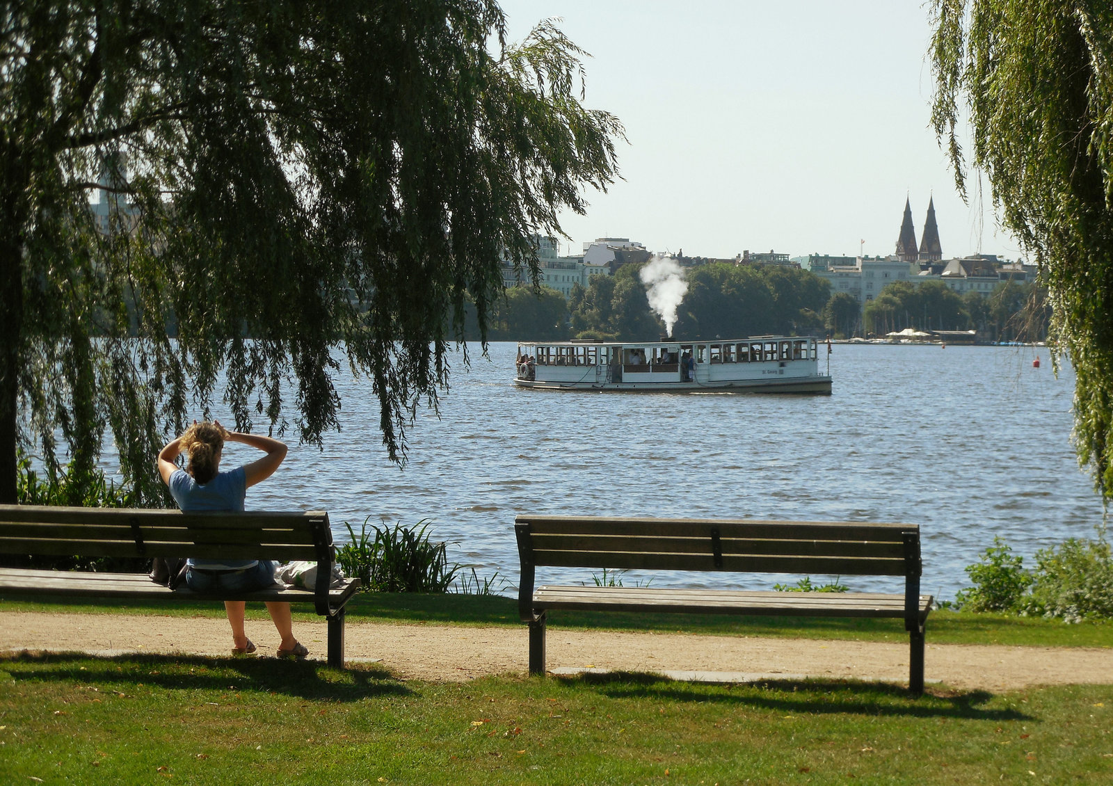
{"type": "MultiPolygon", "coordinates": [[[[543,390],[830,393],[807,336],[730,341],[519,342],[514,384],[543,390]]],[[[830,352],[830,345],[827,351],[830,352]]]]}

